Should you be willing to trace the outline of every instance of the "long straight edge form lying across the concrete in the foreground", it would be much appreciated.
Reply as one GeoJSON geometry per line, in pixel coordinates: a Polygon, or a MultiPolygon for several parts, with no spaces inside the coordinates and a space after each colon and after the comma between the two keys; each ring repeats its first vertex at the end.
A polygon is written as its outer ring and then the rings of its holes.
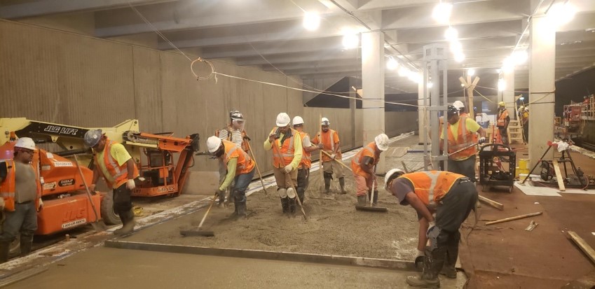
{"type": "Polygon", "coordinates": [[[381,269],[399,269],[406,271],[415,271],[413,262],[403,260],[388,260],[376,258],[363,257],[349,257],[338,255],[318,255],[310,253],[291,253],[291,252],[274,252],[274,251],[259,251],[248,249],[233,249],[233,248],[209,248],[200,246],[183,246],[172,244],[154,244],[133,241],[118,241],[107,240],[105,247],[142,250],[142,251],[156,251],[165,253],[184,253],[196,255],[213,255],[221,257],[235,257],[235,258],[252,258],[252,259],[266,259],[266,260],[280,260],[291,262],[310,262],[328,265],[348,265],[348,266],[362,266],[374,267],[381,269]]]}

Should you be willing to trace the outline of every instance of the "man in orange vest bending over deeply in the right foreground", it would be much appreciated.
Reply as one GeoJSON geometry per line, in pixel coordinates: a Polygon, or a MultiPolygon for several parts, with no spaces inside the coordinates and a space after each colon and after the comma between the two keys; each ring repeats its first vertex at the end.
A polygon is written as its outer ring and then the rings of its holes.
{"type": "Polygon", "coordinates": [[[399,199],[399,204],[411,205],[419,220],[418,251],[423,251],[423,273],[408,276],[414,287],[438,288],[438,274],[456,278],[456,260],[460,225],[477,202],[477,189],[472,181],[449,171],[419,171],[404,174],[391,169],[385,176],[385,190],[399,199]],[[435,213],[436,216],[432,216],[435,213]],[[425,246],[425,239],[430,246],[425,246]]]}

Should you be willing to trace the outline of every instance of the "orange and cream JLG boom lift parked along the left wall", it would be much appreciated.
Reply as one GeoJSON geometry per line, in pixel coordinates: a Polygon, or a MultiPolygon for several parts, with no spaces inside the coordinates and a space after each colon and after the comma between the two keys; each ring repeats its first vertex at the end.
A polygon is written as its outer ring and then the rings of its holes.
{"type": "MultiPolygon", "coordinates": [[[[27,118],[0,118],[0,162],[13,157],[19,137],[32,138],[39,148],[33,164],[43,186],[43,210],[37,215],[36,234],[53,234],[96,221],[81,177],[88,184],[93,180],[93,155],[83,143],[89,129],[27,118]],[[82,173],[70,159],[74,155],[81,161],[82,173]]],[[[175,197],[182,192],[188,169],[194,164],[193,153],[199,149],[198,134],[184,139],[172,133],[147,134],[139,132],[138,120],[101,129],[110,140],[125,146],[139,168],[140,182],[132,196],[175,197]]],[[[120,223],[112,208],[111,190],[96,192],[92,199],[105,223],[120,223]]]]}

